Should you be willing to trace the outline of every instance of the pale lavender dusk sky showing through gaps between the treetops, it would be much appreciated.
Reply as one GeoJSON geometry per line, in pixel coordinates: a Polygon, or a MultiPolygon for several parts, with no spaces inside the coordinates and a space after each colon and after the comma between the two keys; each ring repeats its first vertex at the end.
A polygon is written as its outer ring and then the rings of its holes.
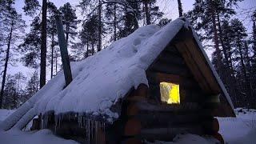
{"type": "MultiPolygon", "coordinates": [[[[41,1],[40,1],[41,2],[41,1]]],[[[54,2],[54,4],[57,7],[63,6],[64,3],[70,2],[72,6],[77,6],[78,1],[73,0],[50,0],[50,2],[54,2]]],[[[182,6],[183,11],[186,13],[188,10],[191,10],[193,8],[194,0],[182,0],[182,6]]],[[[18,13],[22,14],[22,18],[26,20],[26,24],[29,26],[31,22],[31,18],[28,16],[25,16],[23,13],[22,7],[24,6],[24,0],[16,0],[15,4],[18,13]]],[[[158,0],[158,6],[160,6],[160,9],[165,13],[164,17],[175,19],[178,18],[178,6],[177,6],[177,0],[158,0]]],[[[256,0],[245,0],[243,2],[239,2],[237,10],[237,15],[235,18],[239,18],[242,20],[244,26],[246,26],[246,29],[251,33],[252,31],[252,22],[250,22],[250,15],[253,10],[256,8],[256,0]]],[[[82,19],[81,11],[77,8],[77,15],[79,19],[82,19]]],[[[29,31],[29,28],[26,30],[29,31]]],[[[210,57],[211,52],[206,51],[208,56],[210,57]]],[[[27,68],[25,66],[22,66],[22,64],[17,63],[18,66],[10,66],[8,67],[8,74],[15,74],[18,71],[22,71],[23,74],[27,75],[28,77],[32,74],[32,69],[27,68]]],[[[50,76],[47,74],[47,79],[49,79],[50,76]]]]}

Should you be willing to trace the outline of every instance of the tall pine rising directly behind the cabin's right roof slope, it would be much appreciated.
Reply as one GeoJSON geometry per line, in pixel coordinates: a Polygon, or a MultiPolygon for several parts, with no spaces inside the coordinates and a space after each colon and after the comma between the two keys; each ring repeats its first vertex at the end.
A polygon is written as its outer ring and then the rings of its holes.
{"type": "MultiPolygon", "coordinates": [[[[187,16],[193,23],[195,30],[202,32],[200,38],[214,42],[213,63],[222,78],[227,90],[237,99],[237,79],[234,75],[232,63],[233,48],[230,46],[229,18],[235,14],[233,6],[242,0],[196,0],[194,8],[187,16]]],[[[208,42],[209,43],[209,42],[208,42]]]]}

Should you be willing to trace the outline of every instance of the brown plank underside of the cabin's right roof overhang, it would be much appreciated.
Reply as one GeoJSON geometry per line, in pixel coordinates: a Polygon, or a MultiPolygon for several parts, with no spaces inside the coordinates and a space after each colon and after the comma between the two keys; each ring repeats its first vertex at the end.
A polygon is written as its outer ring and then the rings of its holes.
{"type": "Polygon", "coordinates": [[[194,40],[193,34],[188,30],[181,30],[177,35],[174,46],[182,54],[186,65],[190,68],[194,78],[206,94],[220,94],[221,89],[215,80],[201,51],[194,40]]]}

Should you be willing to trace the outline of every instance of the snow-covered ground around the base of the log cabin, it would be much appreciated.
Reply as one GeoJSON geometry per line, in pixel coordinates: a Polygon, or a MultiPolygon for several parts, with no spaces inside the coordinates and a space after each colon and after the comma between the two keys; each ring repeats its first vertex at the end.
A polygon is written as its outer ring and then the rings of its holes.
{"type": "MultiPolygon", "coordinates": [[[[255,144],[256,143],[256,110],[236,109],[237,118],[218,118],[220,123],[220,134],[228,144],[255,144]]],[[[0,122],[13,113],[14,110],[0,110],[0,122]]],[[[27,129],[28,130],[28,129],[27,129]]],[[[213,138],[202,138],[194,134],[180,134],[174,138],[174,142],[156,142],[162,143],[178,143],[178,144],[214,144],[213,138]]],[[[50,130],[39,131],[2,131],[0,130],[0,143],[16,144],[16,143],[36,143],[36,144],[74,144],[72,140],[66,140],[56,137],[50,130]]]]}

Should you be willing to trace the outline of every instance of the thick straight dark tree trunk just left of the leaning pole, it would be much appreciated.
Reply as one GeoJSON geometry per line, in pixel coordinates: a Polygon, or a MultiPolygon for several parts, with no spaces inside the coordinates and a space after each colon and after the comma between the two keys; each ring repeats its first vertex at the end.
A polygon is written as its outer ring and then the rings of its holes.
{"type": "Polygon", "coordinates": [[[42,31],[41,31],[41,62],[40,62],[40,89],[46,85],[46,14],[47,0],[42,0],[42,31]]]}

